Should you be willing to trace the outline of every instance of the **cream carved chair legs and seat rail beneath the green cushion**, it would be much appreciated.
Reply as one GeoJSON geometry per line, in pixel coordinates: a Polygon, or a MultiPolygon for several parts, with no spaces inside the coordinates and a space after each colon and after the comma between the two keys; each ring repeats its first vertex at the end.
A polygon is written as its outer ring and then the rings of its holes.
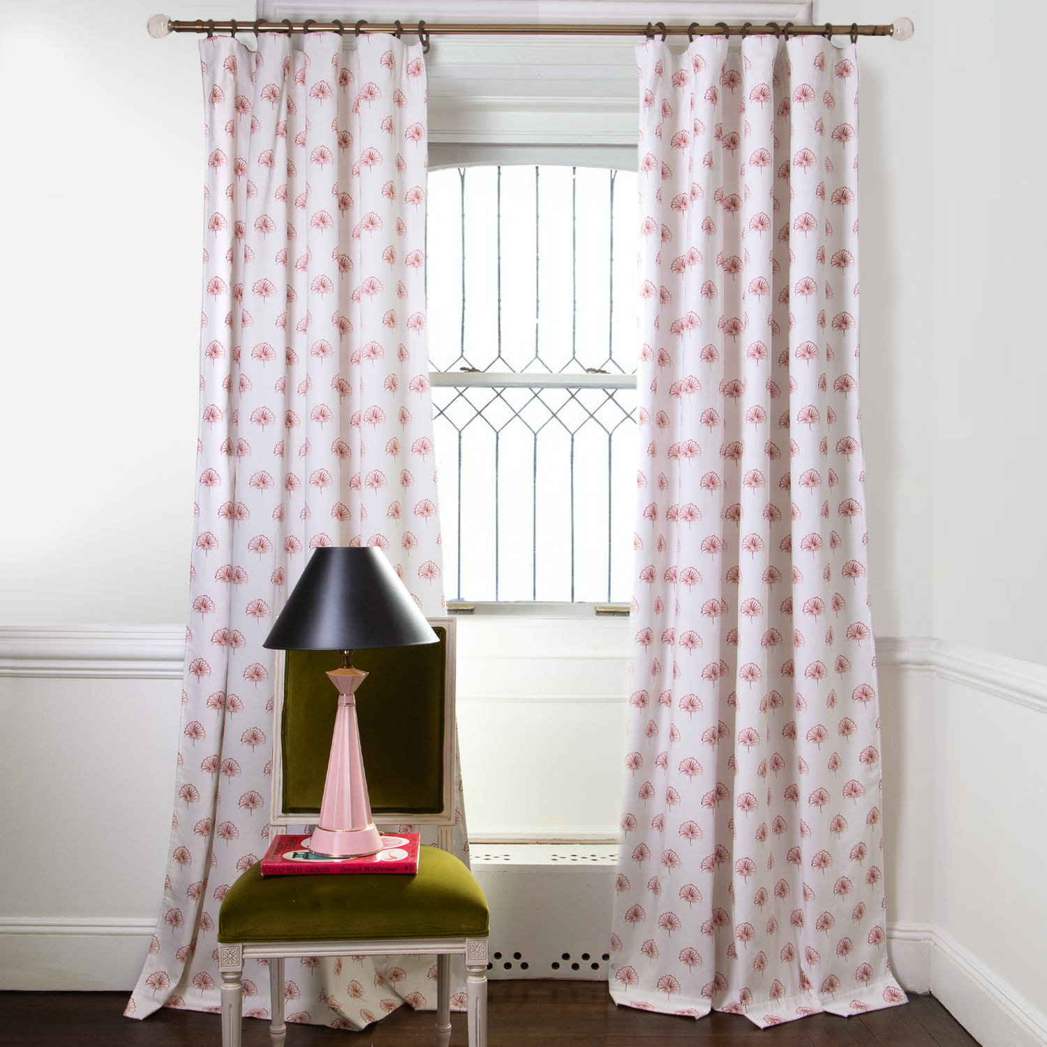
{"type": "Polygon", "coordinates": [[[284,960],[295,956],[388,956],[397,954],[437,956],[437,1047],[451,1040],[451,956],[465,957],[468,996],[469,1047],[487,1047],[487,938],[386,938],[361,941],[255,941],[218,946],[218,970],[222,975],[222,1047],[241,1047],[243,1026],[244,960],[269,959],[269,993],[272,997],[269,1039],[283,1047],[284,960]]]}

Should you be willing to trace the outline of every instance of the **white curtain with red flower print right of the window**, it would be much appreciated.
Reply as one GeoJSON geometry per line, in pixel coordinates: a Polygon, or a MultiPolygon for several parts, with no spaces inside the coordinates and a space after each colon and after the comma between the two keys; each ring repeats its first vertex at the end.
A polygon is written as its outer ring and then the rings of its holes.
{"type": "Polygon", "coordinates": [[[886,949],[859,408],[857,63],[638,48],[636,632],[611,995],[905,1003],[886,949]]]}

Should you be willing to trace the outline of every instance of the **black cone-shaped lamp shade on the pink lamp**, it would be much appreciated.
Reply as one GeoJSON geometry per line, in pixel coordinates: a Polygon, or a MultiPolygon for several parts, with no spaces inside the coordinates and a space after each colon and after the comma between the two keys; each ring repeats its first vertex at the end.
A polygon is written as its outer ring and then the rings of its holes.
{"type": "Polygon", "coordinates": [[[313,552],[263,646],[344,651],[437,641],[382,551],[342,545],[313,552]]]}

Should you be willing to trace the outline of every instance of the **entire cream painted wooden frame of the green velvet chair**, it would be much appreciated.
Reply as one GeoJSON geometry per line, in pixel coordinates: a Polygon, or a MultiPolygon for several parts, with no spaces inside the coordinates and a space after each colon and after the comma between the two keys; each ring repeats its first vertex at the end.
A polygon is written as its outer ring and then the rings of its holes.
{"type": "MultiPolygon", "coordinates": [[[[447,630],[447,664],[444,681],[444,788],[442,809],[436,814],[382,811],[382,823],[409,822],[436,825],[437,842],[451,852],[454,841],[454,693],[458,622],[454,618],[430,618],[429,624],[447,630]]],[[[284,652],[276,654],[273,695],[272,798],[269,838],[302,824],[300,814],[284,810],[283,739],[284,652]]],[[[469,1047],[487,1047],[487,938],[387,938],[357,941],[252,941],[223,942],[218,946],[218,970],[222,975],[222,1047],[241,1047],[243,1025],[244,960],[269,960],[271,1018],[269,1039],[272,1047],[282,1047],[287,1033],[284,1022],[284,960],[303,956],[437,956],[437,1045],[448,1047],[451,1038],[450,958],[464,956],[468,997],[469,1047]]]]}

